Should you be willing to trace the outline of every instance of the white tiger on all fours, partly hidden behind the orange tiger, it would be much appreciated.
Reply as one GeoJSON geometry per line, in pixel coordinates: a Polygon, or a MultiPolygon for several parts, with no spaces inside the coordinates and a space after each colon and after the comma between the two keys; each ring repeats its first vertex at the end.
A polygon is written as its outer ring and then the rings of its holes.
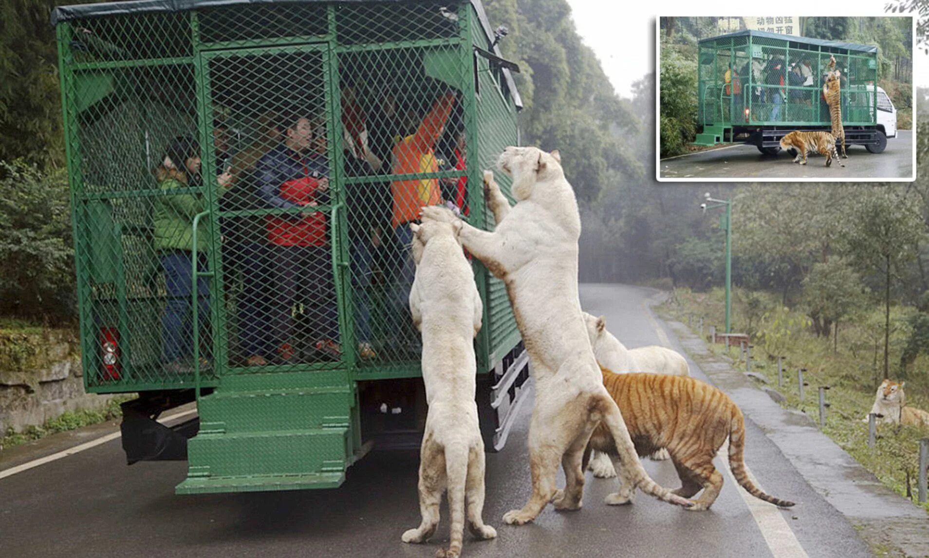
{"type": "MultiPolygon", "coordinates": [[[[594,357],[605,369],[616,374],[631,372],[646,372],[648,374],[667,374],[670,376],[690,376],[687,359],[676,351],[661,345],[653,344],[635,349],[627,349],[626,345],[607,331],[607,321],[603,316],[595,318],[593,315],[582,312],[584,325],[587,327],[587,336],[590,338],[594,357]]],[[[651,454],[653,461],[671,459],[668,450],[661,448],[651,454]]],[[[588,469],[594,472],[597,478],[611,478],[616,476],[616,468],[609,456],[601,451],[591,453],[588,469]]]]}

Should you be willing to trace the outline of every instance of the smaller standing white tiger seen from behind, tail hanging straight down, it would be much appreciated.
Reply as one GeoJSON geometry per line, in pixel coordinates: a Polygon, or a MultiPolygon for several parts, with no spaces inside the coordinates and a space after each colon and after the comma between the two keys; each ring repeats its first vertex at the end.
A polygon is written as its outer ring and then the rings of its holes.
{"type": "Polygon", "coordinates": [[[474,272],[462,251],[458,223],[410,226],[416,276],[410,290],[413,324],[423,334],[423,382],[429,410],[419,458],[419,507],[423,521],[403,533],[403,542],[423,542],[438,526],[438,505],[448,488],[451,540],[437,556],[462,551],[464,508],[478,539],[493,539],[484,525],[484,441],[475,403],[474,338],[483,306],[474,272]]]}

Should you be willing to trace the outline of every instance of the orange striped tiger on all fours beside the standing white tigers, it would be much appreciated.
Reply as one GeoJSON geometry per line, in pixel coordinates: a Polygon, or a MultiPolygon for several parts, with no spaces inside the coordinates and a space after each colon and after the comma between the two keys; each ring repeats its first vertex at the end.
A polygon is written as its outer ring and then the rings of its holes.
{"type": "MultiPolygon", "coordinates": [[[[674,494],[690,498],[703,490],[689,510],[707,510],[719,496],[723,475],[713,467],[713,458],[726,437],[729,438],[729,467],[739,486],[755,498],[777,506],[793,505],[792,501],[768,496],[749,479],[742,460],[745,448],[742,411],[722,391],[687,376],[614,374],[603,367],[600,370],[609,395],[622,409],[635,451],[645,456],[658,448],[668,448],[682,483],[674,494]]],[[[613,438],[603,424],[596,427],[584,452],[584,469],[592,449],[606,452],[618,461],[613,438]]],[[[620,489],[610,494],[606,502],[612,505],[630,503],[635,485],[626,478],[627,467],[617,469],[620,489]]]]}

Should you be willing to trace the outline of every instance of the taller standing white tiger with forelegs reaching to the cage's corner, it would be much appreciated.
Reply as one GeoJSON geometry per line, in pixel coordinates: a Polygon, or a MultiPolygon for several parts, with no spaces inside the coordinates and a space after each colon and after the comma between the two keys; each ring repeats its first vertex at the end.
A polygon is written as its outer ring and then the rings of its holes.
{"type": "MultiPolygon", "coordinates": [[[[504,280],[519,333],[530,356],[535,397],[529,432],[532,495],[504,522],[522,525],[552,502],[557,510],[581,508],[584,448],[599,422],[608,426],[635,486],[674,504],[693,502],[660,487],[635,454],[616,402],[603,386],[603,374],[581,316],[578,295],[578,238],[581,217],[557,151],[508,147],[499,165],[513,176],[512,208],[484,173],[485,199],[497,222],[493,232],[463,224],[464,248],[504,280]],[[565,488],[556,488],[558,464],[565,488]]],[[[423,221],[461,222],[446,208],[423,209],[423,221]]]]}

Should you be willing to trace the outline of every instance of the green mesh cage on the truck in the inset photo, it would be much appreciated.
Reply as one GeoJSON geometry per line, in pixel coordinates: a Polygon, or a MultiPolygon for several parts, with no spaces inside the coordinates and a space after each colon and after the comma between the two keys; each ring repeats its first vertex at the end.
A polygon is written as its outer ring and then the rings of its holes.
{"type": "Polygon", "coordinates": [[[773,33],[740,32],[700,42],[698,120],[704,125],[823,126],[830,56],[842,72],[845,125],[876,123],[877,51],[773,33]]]}

